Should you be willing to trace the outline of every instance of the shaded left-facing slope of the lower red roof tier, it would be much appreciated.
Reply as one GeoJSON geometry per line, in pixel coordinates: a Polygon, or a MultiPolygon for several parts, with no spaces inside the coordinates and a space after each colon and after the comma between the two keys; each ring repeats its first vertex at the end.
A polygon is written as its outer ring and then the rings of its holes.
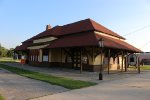
{"type": "Polygon", "coordinates": [[[98,42],[95,35],[91,32],[87,32],[83,34],[75,34],[61,37],[52,42],[46,48],[81,47],[97,45],[98,42]]]}

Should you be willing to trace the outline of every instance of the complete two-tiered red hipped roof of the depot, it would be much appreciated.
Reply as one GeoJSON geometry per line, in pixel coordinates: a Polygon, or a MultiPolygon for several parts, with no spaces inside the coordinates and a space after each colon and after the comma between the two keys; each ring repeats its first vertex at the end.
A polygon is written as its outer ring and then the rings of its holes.
{"type": "Polygon", "coordinates": [[[58,39],[54,40],[49,46],[47,46],[47,48],[98,46],[98,39],[103,38],[105,47],[123,49],[132,52],[141,52],[141,50],[126,43],[125,41],[122,41],[125,40],[124,37],[118,35],[117,33],[107,29],[106,27],[98,24],[91,19],[85,19],[63,26],[55,26],[52,29],[41,32],[38,35],[24,41],[23,45],[17,47],[16,50],[27,49],[27,47],[33,43],[34,39],[44,38],[48,36],[54,36],[58,39]],[[94,31],[98,31],[109,36],[116,37],[118,39],[95,34],[94,31]]]}

